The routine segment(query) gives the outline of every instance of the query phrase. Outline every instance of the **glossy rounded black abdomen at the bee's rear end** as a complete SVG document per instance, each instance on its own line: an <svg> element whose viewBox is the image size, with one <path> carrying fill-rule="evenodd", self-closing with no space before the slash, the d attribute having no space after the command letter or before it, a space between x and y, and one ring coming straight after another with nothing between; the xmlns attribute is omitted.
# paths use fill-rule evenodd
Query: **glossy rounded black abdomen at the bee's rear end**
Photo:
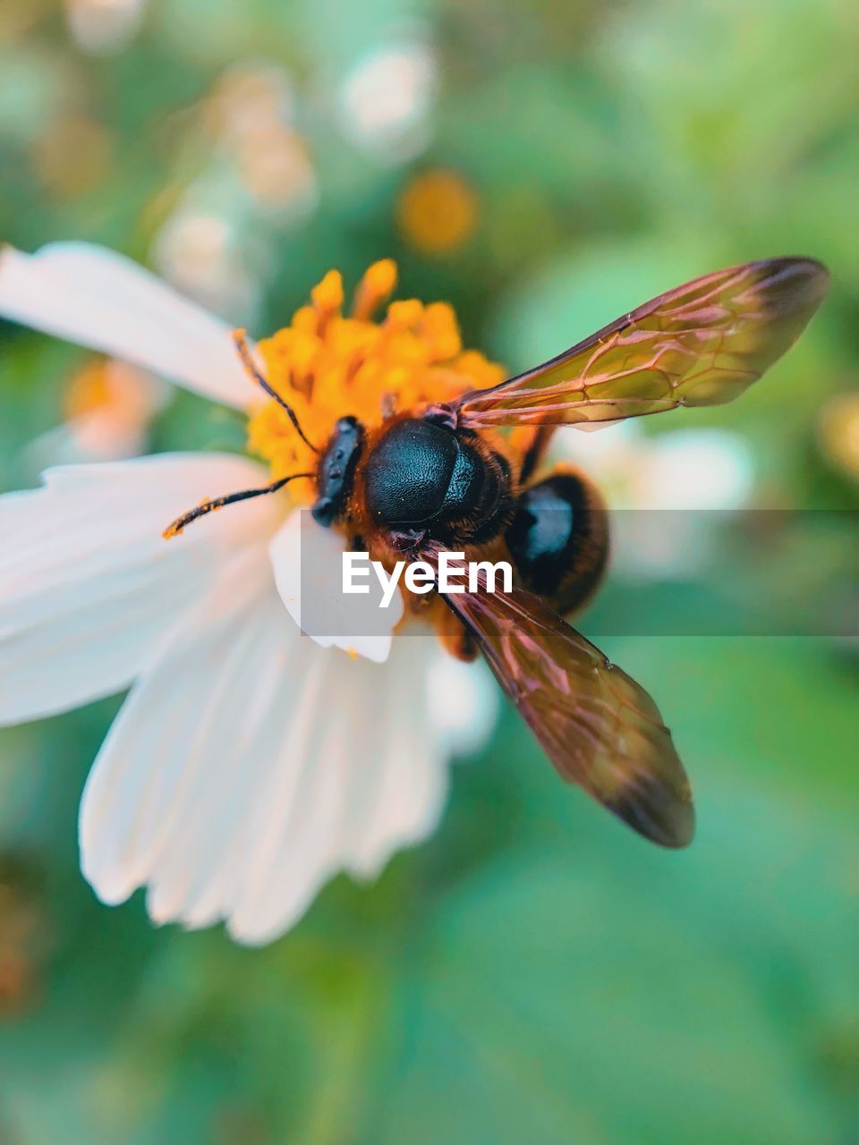
<svg viewBox="0 0 859 1145"><path fill-rule="evenodd" d="M584 474L558 466L519 496L505 540L522 587L568 616L605 574L608 511Z"/></svg>

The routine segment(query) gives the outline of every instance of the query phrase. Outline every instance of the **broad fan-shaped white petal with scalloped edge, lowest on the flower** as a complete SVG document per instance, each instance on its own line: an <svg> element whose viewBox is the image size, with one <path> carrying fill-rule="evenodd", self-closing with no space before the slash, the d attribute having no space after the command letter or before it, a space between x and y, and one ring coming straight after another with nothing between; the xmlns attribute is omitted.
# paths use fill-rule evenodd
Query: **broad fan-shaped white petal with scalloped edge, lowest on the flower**
<svg viewBox="0 0 859 1145"><path fill-rule="evenodd" d="M132 690L80 839L105 901L148 884L157 922L224 918L257 945L338 870L373 874L432 830L447 764L421 641L399 641L385 665L352 661L301 640L270 589L238 585L191 609Z"/></svg>

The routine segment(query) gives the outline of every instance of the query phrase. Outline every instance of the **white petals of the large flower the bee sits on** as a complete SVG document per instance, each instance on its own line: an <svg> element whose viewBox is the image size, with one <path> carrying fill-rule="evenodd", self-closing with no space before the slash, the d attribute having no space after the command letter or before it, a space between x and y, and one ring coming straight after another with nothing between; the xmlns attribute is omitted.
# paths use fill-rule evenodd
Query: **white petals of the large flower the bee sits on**
<svg viewBox="0 0 859 1145"><path fill-rule="evenodd" d="M238 409L257 396L226 324L109 251L5 248L0 314ZM495 702L431 638L392 642L393 608L383 634L328 640L357 658L304 637L297 547L342 542L299 532L283 495L163 539L202 498L269 480L173 453L54 468L0 498L0 722L132 685L84 792L86 877L105 902L145 885L156 922L224 919L249 943L337 871L373 876L432 831L447 760Z"/></svg>

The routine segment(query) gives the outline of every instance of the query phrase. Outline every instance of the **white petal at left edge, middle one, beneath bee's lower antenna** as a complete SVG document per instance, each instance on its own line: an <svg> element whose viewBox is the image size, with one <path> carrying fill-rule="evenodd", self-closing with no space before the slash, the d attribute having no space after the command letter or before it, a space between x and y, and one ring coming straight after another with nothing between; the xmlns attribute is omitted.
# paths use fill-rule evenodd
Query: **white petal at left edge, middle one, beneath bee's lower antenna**
<svg viewBox="0 0 859 1145"><path fill-rule="evenodd" d="M126 687L224 554L274 531L275 498L212 514L166 542L202 498L265 481L227 455L163 455L50 469L0 497L0 722Z"/></svg>

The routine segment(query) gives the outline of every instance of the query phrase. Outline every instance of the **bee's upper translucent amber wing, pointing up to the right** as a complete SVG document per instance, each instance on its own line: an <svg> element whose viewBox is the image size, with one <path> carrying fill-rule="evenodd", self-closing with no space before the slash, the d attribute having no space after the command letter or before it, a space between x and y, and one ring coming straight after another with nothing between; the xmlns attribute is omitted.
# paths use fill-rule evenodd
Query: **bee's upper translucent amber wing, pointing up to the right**
<svg viewBox="0 0 859 1145"><path fill-rule="evenodd" d="M803 258L704 275L534 370L451 404L460 425L481 429L616 421L730 402L799 337L828 277Z"/></svg>

